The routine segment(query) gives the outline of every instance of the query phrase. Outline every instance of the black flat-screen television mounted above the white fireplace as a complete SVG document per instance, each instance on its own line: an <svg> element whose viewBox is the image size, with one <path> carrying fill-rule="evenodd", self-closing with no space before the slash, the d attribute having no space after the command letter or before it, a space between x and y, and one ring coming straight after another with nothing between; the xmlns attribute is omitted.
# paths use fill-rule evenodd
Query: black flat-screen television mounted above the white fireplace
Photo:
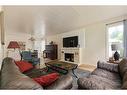
<svg viewBox="0 0 127 95"><path fill-rule="evenodd" d="M63 47L77 47L78 46L78 36L63 38Z"/></svg>

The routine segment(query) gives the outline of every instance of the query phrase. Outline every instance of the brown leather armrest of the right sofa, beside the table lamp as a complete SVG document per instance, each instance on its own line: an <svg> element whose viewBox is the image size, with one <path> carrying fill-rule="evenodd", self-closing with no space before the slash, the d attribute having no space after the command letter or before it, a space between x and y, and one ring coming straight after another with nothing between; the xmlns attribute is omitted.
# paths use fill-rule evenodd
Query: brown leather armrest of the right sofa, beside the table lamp
<svg viewBox="0 0 127 95"><path fill-rule="evenodd" d="M105 69L111 72L118 72L118 64L108 63L104 61L98 61L97 68Z"/></svg>

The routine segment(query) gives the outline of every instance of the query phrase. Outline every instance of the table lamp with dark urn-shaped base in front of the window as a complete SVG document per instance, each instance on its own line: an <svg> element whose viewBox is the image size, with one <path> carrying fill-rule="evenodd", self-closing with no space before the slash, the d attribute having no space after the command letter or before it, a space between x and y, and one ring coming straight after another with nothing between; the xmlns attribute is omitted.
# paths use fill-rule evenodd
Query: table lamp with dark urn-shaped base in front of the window
<svg viewBox="0 0 127 95"><path fill-rule="evenodd" d="M118 53L117 50L120 49L120 43L113 43L113 44L111 45L111 48L112 48L112 51L115 51L115 53L114 53L114 55L113 55L115 61L118 61L119 58L120 58L120 54Z"/></svg>

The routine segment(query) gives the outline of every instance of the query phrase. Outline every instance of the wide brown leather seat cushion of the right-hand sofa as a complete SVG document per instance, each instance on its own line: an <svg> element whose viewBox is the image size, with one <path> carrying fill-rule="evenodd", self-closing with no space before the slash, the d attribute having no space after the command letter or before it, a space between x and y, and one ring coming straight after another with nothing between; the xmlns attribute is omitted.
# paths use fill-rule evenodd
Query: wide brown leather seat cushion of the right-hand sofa
<svg viewBox="0 0 127 95"><path fill-rule="evenodd" d="M97 75L79 78L78 85L81 89L119 89L121 84Z"/></svg>

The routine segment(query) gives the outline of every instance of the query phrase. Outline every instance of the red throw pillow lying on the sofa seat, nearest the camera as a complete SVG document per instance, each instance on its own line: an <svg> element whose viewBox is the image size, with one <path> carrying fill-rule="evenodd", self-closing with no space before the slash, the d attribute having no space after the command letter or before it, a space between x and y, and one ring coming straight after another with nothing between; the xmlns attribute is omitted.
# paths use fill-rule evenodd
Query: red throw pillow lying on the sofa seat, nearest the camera
<svg viewBox="0 0 127 95"><path fill-rule="evenodd" d="M59 78L58 73L51 73L51 74L44 75L38 78L33 78L33 79L42 86L48 86L51 83L53 83L55 80L57 80L58 78Z"/></svg>

